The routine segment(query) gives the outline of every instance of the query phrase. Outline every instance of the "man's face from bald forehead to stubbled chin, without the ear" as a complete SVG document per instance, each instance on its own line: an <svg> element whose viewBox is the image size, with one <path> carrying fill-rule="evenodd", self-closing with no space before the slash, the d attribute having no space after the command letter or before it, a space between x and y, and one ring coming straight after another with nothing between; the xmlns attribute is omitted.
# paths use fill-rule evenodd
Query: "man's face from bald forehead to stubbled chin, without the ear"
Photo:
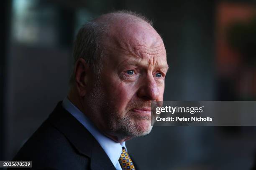
<svg viewBox="0 0 256 170"><path fill-rule="evenodd" d="M121 34L115 31L105 42L100 82L91 97L105 133L136 137L152 128L151 101L163 100L168 65L164 44L153 28L135 25Z"/></svg>

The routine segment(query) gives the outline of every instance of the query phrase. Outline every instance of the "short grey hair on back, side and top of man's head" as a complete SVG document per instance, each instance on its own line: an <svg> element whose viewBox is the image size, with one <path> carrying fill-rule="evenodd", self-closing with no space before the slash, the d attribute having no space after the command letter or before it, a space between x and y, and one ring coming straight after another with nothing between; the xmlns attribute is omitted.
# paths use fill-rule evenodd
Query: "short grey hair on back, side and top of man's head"
<svg viewBox="0 0 256 170"><path fill-rule="evenodd" d="M130 16L129 16L130 15ZM152 22L141 14L131 11L120 10L112 13L101 15L100 17L84 24L77 33L74 41L73 68L79 58L83 58L85 62L92 67L93 72L99 79L102 69L102 59L104 56L104 47L102 46L102 38L108 33L108 26L111 21L119 17L128 17L133 20L143 20L152 26ZM103 18L104 20L102 20ZM107 18L107 20L106 20ZM69 80L69 84L73 85L75 81L74 69Z"/></svg>

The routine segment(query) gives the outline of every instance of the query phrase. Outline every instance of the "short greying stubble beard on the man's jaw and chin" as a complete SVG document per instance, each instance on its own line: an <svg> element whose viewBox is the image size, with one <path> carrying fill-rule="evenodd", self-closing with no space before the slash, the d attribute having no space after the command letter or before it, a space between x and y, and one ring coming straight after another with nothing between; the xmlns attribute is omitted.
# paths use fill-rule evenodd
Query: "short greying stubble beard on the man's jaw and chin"
<svg viewBox="0 0 256 170"><path fill-rule="evenodd" d="M120 113L115 108L114 101L106 100L100 82L97 81L92 92L88 96L92 110L104 119L103 122L107 129L104 133L117 136L119 139L134 138L138 136L147 135L151 132L150 116L136 116L131 112L131 108L138 105L138 103L128 103L125 111ZM93 113L93 114L95 114ZM121 117L121 115L124 115Z"/></svg>

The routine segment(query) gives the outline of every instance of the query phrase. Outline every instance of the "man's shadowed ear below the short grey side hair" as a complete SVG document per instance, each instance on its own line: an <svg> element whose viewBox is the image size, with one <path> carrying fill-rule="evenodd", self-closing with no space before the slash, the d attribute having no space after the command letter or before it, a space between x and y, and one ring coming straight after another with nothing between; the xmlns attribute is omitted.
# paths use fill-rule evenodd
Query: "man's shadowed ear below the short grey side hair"
<svg viewBox="0 0 256 170"><path fill-rule="evenodd" d="M75 82L77 91L80 96L84 97L86 94L86 87L88 83L88 64L84 61L83 58L79 58L76 62L74 68Z"/></svg>

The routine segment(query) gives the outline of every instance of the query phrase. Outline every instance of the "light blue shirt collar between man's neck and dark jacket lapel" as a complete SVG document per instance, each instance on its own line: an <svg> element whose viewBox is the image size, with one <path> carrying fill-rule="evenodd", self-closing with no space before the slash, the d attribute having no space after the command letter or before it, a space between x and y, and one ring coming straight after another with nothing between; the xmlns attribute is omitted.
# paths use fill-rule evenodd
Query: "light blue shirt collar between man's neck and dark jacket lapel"
<svg viewBox="0 0 256 170"><path fill-rule="evenodd" d="M93 123L89 120L89 118L81 112L73 103L65 97L62 106L72 114L84 127L93 135L93 137L100 143L101 147L110 158L111 162L115 166L115 168L120 169L120 164L118 159L122 153L122 147L125 147L125 142L117 143L114 140L108 138L107 136L100 133L100 131L93 125Z"/></svg>

